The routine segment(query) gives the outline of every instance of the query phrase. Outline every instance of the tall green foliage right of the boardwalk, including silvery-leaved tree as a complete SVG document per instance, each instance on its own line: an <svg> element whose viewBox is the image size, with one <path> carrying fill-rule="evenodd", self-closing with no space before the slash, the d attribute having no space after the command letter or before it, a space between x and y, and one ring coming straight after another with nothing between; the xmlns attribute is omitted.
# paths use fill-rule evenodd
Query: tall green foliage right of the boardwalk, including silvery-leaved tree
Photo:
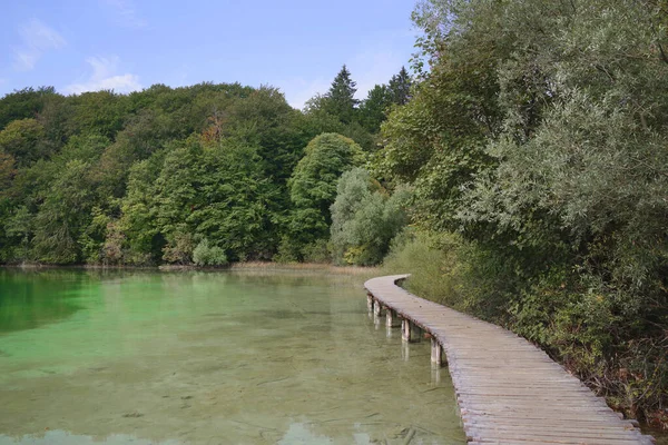
<svg viewBox="0 0 668 445"><path fill-rule="evenodd" d="M540 343L649 419L668 394L664 13L662 2L422 1L421 82L374 162L412 185L430 236L461 234L454 246L418 235L390 264L433 255L439 270L415 276L433 284L425 295Z"/></svg>

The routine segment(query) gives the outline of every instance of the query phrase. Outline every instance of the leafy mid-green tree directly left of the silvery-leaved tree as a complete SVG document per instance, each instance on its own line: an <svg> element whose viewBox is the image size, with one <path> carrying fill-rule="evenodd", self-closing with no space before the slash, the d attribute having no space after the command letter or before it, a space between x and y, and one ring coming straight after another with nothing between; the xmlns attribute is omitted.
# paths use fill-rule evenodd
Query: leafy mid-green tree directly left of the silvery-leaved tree
<svg viewBox="0 0 668 445"><path fill-rule="evenodd" d="M484 142L502 121L494 63L482 56L443 56L414 98L383 125L375 174L414 185L414 218L422 227L459 229L462 187L493 164Z"/></svg>

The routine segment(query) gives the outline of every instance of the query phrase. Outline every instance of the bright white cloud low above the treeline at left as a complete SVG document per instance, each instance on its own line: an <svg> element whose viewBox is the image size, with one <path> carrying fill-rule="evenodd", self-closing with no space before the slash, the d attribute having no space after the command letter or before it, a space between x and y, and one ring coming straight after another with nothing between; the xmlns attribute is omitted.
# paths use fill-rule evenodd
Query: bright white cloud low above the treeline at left
<svg viewBox="0 0 668 445"><path fill-rule="evenodd" d="M75 82L65 87L66 93L79 95L86 91L114 90L130 92L140 90L139 77L125 73L117 75L118 57L89 57L86 59L92 68L92 73L84 82Z"/></svg>

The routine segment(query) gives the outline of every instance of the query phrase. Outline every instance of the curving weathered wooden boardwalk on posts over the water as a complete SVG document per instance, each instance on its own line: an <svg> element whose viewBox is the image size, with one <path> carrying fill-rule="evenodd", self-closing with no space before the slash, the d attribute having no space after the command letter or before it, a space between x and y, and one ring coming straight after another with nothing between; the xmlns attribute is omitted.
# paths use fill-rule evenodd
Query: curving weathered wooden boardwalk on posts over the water
<svg viewBox="0 0 668 445"><path fill-rule="evenodd" d="M446 360L470 444L652 444L548 355L499 326L415 297L407 275L364 284L370 309L401 320L405 340L432 338L432 362ZM446 358L442 355L444 352Z"/></svg>

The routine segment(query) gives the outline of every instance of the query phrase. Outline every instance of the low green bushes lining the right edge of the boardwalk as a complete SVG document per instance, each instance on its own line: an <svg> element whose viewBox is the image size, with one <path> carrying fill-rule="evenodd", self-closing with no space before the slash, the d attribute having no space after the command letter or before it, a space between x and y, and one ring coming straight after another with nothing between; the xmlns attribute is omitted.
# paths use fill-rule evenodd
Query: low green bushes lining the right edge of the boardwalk
<svg viewBox="0 0 668 445"><path fill-rule="evenodd" d="M423 298L500 324L540 345L608 403L656 426L668 387L668 336L623 289L560 264L525 276L510 256L460 235L409 228L392 243L387 274ZM656 310L656 309L655 309ZM660 310L656 310L661 314Z"/></svg>

